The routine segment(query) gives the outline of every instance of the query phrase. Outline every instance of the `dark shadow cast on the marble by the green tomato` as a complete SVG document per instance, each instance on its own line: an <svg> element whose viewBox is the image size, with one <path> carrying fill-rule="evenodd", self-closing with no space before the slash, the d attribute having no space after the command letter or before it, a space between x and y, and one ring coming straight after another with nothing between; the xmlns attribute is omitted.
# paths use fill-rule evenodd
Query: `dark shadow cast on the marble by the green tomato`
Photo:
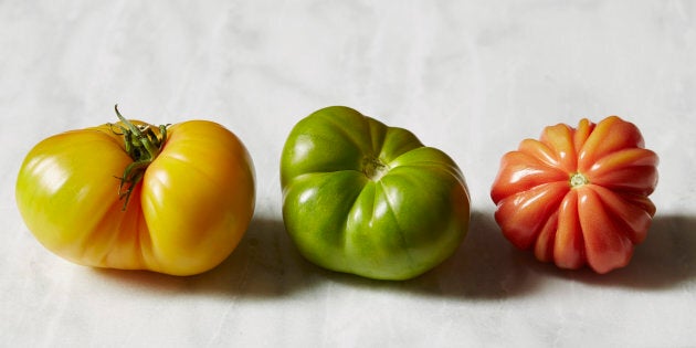
<svg viewBox="0 0 696 348"><path fill-rule="evenodd" d="M488 212L474 211L470 231L455 253L433 270L408 281L375 281L323 271L335 282L387 292L460 299L502 299L534 292L530 270L502 235Z"/></svg>

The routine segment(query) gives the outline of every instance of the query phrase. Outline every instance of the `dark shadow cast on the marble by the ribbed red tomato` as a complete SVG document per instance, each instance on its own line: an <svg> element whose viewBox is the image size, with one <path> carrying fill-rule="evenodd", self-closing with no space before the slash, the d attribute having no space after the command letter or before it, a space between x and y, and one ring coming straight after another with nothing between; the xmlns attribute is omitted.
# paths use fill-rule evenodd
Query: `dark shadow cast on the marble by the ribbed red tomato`
<svg viewBox="0 0 696 348"><path fill-rule="evenodd" d="M635 247L631 263L607 274L589 268L558 270L536 263L536 272L579 281L592 286L664 289L696 278L696 217L660 215L653 219L647 238Z"/></svg>

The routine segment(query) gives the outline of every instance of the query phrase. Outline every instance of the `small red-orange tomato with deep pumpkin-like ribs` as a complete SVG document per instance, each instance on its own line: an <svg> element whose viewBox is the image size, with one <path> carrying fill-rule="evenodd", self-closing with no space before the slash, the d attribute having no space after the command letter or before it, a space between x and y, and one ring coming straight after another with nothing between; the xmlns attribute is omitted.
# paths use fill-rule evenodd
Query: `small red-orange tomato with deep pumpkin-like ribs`
<svg viewBox="0 0 696 348"><path fill-rule="evenodd" d="M657 155L616 116L545 128L506 154L493 183L495 219L519 249L562 268L607 273L629 264L655 205Z"/></svg>

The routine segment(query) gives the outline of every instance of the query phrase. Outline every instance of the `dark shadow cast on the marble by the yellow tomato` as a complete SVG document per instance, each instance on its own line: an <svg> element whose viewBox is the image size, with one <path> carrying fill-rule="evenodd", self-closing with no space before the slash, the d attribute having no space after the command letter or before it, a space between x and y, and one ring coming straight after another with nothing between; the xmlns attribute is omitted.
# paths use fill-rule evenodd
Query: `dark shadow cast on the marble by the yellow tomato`
<svg viewBox="0 0 696 348"><path fill-rule="evenodd" d="M152 294L274 298L312 286L313 266L295 251L281 219L254 217L234 252L211 271L171 276L147 271L98 270L107 282Z"/></svg>

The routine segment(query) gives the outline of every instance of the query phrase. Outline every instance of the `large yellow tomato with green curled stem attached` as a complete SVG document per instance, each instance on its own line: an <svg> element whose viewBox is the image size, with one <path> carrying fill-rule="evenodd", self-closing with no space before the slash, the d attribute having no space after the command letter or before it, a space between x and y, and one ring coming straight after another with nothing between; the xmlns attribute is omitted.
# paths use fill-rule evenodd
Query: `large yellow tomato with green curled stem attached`
<svg viewBox="0 0 696 348"><path fill-rule="evenodd" d="M172 275L214 267L254 211L244 145L212 122L155 127L118 116L31 149L15 190L27 226L82 265Z"/></svg>

